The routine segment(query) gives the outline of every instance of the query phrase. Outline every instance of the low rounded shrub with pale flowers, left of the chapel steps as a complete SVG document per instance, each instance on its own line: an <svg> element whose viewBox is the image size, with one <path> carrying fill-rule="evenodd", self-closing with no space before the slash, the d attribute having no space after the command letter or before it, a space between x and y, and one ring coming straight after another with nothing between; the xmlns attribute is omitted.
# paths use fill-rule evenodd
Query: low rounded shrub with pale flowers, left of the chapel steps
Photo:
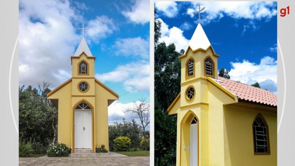
<svg viewBox="0 0 295 166"><path fill-rule="evenodd" d="M68 157L72 148L64 143L50 144L47 150L48 157Z"/></svg>

